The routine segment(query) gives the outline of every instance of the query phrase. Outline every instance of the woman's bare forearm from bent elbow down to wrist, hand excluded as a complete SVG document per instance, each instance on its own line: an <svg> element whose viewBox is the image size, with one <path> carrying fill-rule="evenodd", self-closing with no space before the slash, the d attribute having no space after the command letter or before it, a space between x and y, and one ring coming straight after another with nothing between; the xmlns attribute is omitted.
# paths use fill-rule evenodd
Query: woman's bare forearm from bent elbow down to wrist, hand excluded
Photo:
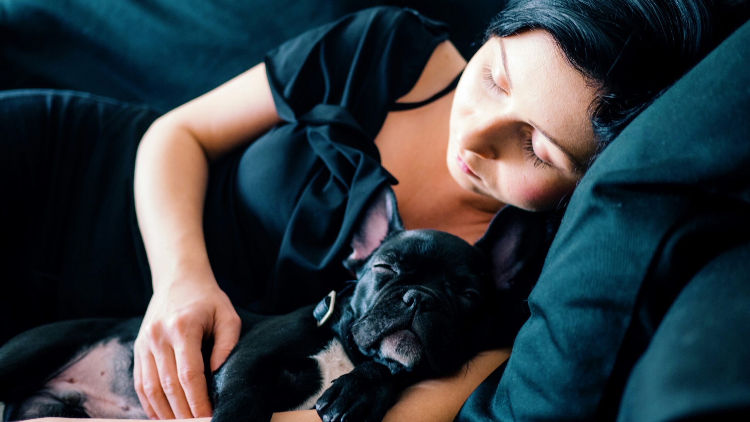
<svg viewBox="0 0 750 422"><path fill-rule="evenodd" d="M134 188L154 289L186 274L213 278L202 229L207 180L208 160L196 139L177 125L152 124L136 155Z"/></svg>

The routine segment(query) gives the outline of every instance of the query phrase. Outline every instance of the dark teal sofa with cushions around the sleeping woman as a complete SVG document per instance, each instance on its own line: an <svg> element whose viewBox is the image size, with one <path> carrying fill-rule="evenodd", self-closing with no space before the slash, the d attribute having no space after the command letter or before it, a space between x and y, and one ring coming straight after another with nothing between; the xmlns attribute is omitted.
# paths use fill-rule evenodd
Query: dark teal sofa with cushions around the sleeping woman
<svg viewBox="0 0 750 422"><path fill-rule="evenodd" d="M469 58L500 1L0 0L0 89L166 111L308 28L379 4ZM750 24L642 112L580 181L511 358L458 421L747 420Z"/></svg>

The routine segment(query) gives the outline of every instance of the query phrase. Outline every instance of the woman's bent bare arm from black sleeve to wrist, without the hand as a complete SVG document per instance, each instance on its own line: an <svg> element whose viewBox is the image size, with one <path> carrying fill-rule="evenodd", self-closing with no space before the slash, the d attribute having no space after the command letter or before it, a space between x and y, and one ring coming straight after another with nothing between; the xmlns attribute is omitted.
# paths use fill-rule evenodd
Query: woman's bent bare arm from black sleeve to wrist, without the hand
<svg viewBox="0 0 750 422"><path fill-rule="evenodd" d="M210 271L202 234L208 160L280 121L261 63L154 121L138 148L135 196L154 284Z"/></svg>

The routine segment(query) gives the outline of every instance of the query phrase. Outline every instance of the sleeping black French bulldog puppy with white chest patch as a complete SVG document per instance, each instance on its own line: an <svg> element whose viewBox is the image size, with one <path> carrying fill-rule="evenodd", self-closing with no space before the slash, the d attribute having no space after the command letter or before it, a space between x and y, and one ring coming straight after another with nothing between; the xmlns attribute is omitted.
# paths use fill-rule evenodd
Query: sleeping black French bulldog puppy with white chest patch
<svg viewBox="0 0 750 422"><path fill-rule="evenodd" d="M313 408L324 422L380 421L404 387L480 352L493 289L475 247L445 232L405 231L390 188L352 247L344 265L357 281L338 295L284 316L238 310L241 340L208 374L214 421ZM140 323L58 322L10 340L0 348L5 421L145 418L132 376Z"/></svg>

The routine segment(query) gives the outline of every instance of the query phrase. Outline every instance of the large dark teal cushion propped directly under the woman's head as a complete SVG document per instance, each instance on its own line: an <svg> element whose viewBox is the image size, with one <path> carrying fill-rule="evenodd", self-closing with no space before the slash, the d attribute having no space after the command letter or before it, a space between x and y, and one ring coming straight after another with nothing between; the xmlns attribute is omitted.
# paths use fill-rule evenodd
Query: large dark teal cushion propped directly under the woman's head
<svg viewBox="0 0 750 422"><path fill-rule="evenodd" d="M616 418L628 375L679 290L750 238L748 45L745 23L583 177L511 358L458 420Z"/></svg>

